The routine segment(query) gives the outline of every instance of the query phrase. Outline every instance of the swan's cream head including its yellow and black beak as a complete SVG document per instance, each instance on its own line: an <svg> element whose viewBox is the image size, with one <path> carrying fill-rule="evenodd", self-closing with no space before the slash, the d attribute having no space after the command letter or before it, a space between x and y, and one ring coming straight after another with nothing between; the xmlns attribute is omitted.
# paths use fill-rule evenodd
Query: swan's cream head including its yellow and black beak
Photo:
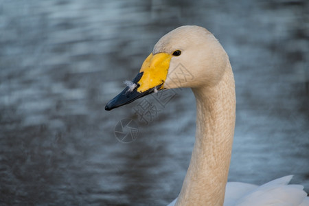
<svg viewBox="0 0 309 206"><path fill-rule="evenodd" d="M227 62L225 50L205 28L178 27L160 38L136 78L105 109L117 108L161 89L213 87L225 73Z"/></svg>

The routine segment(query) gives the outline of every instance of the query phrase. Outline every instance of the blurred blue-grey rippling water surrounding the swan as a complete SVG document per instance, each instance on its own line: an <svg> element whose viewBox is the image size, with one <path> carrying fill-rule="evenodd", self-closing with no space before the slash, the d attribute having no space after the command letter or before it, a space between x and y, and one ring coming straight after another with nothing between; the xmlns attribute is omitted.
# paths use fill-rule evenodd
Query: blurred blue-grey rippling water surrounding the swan
<svg viewBox="0 0 309 206"><path fill-rule="evenodd" d="M176 198L194 144L192 91L163 91L164 104L150 95L104 106L180 25L206 27L231 60L238 102L229 181L294 174L309 192L308 10L306 0L1 0L0 205ZM143 101L157 111L142 116ZM122 119L135 133L116 127Z"/></svg>

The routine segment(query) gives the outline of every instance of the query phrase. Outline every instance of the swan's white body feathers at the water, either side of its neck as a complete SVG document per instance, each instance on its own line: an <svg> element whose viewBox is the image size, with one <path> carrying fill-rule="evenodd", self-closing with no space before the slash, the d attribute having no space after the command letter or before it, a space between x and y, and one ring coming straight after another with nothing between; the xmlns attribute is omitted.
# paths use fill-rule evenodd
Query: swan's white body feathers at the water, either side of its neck
<svg viewBox="0 0 309 206"><path fill-rule="evenodd" d="M302 185L288 185L292 175L260 187L247 183L227 183L224 206L309 206ZM168 206L174 206L177 198Z"/></svg>

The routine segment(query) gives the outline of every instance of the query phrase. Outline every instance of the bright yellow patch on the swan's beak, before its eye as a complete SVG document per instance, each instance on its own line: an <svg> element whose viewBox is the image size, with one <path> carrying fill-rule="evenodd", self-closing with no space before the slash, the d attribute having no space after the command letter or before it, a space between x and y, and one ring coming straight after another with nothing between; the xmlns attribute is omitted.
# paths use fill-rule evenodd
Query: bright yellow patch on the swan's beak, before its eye
<svg viewBox="0 0 309 206"><path fill-rule="evenodd" d="M143 65L141 65L139 72L144 73L139 82L137 82L140 85L137 91L141 93L164 83L166 76L168 76L171 58L172 55L168 53L158 53L155 55L151 53Z"/></svg>

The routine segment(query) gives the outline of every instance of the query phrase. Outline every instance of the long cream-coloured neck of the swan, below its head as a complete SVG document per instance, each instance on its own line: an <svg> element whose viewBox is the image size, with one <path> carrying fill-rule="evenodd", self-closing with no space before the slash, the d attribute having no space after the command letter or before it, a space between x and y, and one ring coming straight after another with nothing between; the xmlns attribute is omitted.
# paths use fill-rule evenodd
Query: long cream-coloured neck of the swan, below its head
<svg viewBox="0 0 309 206"><path fill-rule="evenodd" d="M231 65L214 87L192 89L196 98L196 137L176 205L222 206L236 119Z"/></svg>

